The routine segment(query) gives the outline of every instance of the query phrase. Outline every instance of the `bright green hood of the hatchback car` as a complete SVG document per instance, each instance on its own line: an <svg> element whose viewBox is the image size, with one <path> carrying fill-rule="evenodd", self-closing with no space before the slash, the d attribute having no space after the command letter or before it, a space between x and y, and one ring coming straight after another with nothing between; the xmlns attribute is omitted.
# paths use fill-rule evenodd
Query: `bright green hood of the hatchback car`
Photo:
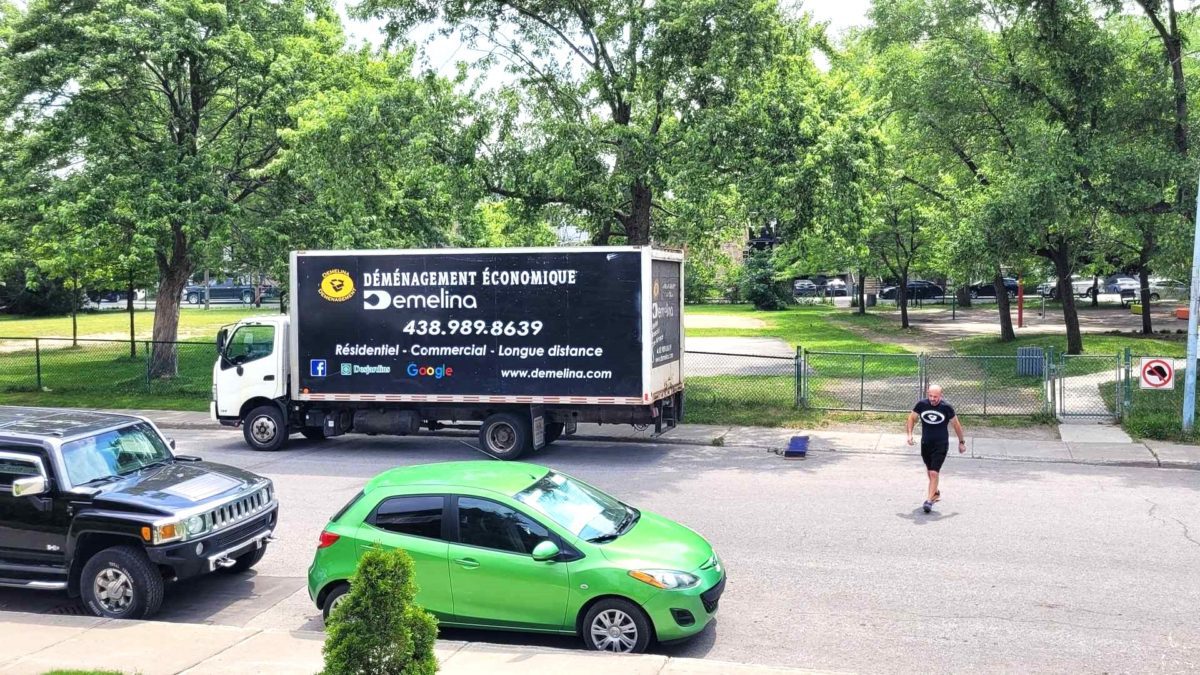
<svg viewBox="0 0 1200 675"><path fill-rule="evenodd" d="M713 546L689 527L648 510L617 539L598 544L605 557L634 568L694 572L713 557Z"/></svg>

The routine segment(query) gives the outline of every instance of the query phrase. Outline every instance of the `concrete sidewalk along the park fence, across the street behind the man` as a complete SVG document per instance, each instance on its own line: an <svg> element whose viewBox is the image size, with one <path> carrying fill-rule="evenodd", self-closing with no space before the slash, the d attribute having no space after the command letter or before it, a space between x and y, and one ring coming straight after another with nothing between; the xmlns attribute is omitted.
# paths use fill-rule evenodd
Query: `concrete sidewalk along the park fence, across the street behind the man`
<svg viewBox="0 0 1200 675"><path fill-rule="evenodd" d="M162 429L218 429L206 413L121 412L146 416ZM1184 446L1165 441L1132 441L1120 426L1111 424L1064 424L1060 426L1062 438L1058 441L974 436L970 432L971 430L967 431L967 453L973 459L1200 470L1200 446ZM989 431L995 431L996 435L1003 434L1003 429L990 429ZM475 436L474 432L462 430L445 430L434 434L460 437ZM655 438L648 429L638 431L628 425L581 424L578 432L572 438L618 443L653 442L778 449L786 447L793 436L799 435L809 437L809 448L812 452L919 454L918 448L905 443L902 434L882 431L810 431L764 426L683 424ZM954 449L950 448L952 453Z"/></svg>

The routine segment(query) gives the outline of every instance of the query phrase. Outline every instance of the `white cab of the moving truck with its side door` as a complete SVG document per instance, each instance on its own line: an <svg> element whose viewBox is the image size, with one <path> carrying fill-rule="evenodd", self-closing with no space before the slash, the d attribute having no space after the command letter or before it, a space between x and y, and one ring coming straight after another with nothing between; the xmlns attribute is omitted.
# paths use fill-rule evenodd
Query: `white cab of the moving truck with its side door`
<svg viewBox="0 0 1200 675"><path fill-rule="evenodd" d="M283 335L270 323L244 323L226 344L216 374L220 414L234 417L253 398L283 395Z"/></svg>

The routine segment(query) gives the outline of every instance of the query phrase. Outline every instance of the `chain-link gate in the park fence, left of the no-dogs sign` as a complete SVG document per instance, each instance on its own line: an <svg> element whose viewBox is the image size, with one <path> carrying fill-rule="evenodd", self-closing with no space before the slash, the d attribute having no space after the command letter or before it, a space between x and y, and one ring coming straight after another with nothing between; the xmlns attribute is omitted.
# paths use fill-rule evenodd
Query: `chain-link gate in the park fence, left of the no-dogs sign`
<svg viewBox="0 0 1200 675"><path fill-rule="evenodd" d="M1060 354L1055 364L1057 413L1070 418L1118 418L1124 398L1121 354Z"/></svg>

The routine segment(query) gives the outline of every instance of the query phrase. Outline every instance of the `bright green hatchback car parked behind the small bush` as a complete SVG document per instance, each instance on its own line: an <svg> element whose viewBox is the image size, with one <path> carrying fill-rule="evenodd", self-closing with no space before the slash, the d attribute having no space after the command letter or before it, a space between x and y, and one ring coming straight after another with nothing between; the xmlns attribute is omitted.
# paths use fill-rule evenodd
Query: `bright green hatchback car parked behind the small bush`
<svg viewBox="0 0 1200 675"><path fill-rule="evenodd" d="M703 537L542 466L463 461L371 479L320 533L308 595L325 617L371 549L403 549L446 626L577 634L641 652L704 629L725 569Z"/></svg>

